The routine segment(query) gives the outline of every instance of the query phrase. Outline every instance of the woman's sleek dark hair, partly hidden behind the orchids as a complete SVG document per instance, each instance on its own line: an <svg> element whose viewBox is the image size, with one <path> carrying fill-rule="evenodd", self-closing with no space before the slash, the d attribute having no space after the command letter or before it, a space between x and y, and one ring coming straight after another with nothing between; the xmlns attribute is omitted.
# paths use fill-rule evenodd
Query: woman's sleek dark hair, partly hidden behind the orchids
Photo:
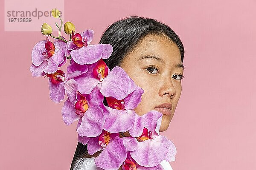
<svg viewBox="0 0 256 170"><path fill-rule="evenodd" d="M178 35L169 26L160 21L138 16L125 17L105 30L99 43L111 44L113 52L108 59L103 60L111 70L116 66L120 66L125 56L131 53L148 34L162 35L168 37L171 42L175 42L180 49L181 62L183 62L184 47ZM105 99L104 104L108 106ZM78 142L70 170L74 170L75 164L78 164L76 167L76 170L78 170L83 162L83 159L80 162L78 162L78 159L87 156L87 154L87 144L83 145Z"/></svg>

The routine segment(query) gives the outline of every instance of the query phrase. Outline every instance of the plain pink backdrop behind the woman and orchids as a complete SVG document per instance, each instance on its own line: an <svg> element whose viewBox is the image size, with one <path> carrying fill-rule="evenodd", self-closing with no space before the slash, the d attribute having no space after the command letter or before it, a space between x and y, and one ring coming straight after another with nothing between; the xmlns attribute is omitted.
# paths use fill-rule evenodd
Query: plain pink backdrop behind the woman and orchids
<svg viewBox="0 0 256 170"><path fill-rule="evenodd" d="M130 15L169 25L185 46L186 67L175 116L163 133L177 147L173 169L253 170L255 9L255 0L65 0L64 15L77 32L95 31L92 44L111 23ZM32 48L45 37L40 28L5 32L3 12L0 17L0 169L67 170L77 144L76 123L64 124L64 102L53 103L48 78L29 71Z"/></svg>

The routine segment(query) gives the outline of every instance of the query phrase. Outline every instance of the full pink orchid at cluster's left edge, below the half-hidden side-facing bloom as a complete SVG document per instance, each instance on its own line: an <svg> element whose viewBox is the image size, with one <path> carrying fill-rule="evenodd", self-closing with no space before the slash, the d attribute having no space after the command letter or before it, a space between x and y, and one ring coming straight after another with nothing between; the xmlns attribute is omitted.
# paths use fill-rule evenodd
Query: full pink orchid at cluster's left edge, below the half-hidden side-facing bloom
<svg viewBox="0 0 256 170"><path fill-rule="evenodd" d="M81 94L74 79L64 85L68 99L61 110L64 123L70 125L78 120L77 132L80 136L96 137L103 129L109 111L105 108L98 87L91 94Z"/></svg>

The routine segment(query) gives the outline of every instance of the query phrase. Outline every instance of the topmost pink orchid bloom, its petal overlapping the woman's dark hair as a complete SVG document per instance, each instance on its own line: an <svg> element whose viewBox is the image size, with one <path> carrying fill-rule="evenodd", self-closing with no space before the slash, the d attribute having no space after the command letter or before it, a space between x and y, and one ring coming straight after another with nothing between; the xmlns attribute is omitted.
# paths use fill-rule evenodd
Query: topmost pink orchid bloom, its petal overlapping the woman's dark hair
<svg viewBox="0 0 256 170"><path fill-rule="evenodd" d="M72 31L72 40L67 42L66 56L71 57L78 64L93 64L99 59L107 59L113 52L110 44L90 45L93 40L94 31L86 30L79 34Z"/></svg>

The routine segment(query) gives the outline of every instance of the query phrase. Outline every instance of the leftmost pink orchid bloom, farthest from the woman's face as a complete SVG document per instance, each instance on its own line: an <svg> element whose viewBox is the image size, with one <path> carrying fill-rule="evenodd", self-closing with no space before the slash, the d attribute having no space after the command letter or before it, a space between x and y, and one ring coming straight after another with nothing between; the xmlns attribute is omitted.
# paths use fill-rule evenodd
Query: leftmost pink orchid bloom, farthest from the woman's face
<svg viewBox="0 0 256 170"><path fill-rule="evenodd" d="M46 38L46 40L38 42L32 50L30 71L34 77L55 73L57 68L66 62L66 43L59 39L53 43L49 41L48 37Z"/></svg>

